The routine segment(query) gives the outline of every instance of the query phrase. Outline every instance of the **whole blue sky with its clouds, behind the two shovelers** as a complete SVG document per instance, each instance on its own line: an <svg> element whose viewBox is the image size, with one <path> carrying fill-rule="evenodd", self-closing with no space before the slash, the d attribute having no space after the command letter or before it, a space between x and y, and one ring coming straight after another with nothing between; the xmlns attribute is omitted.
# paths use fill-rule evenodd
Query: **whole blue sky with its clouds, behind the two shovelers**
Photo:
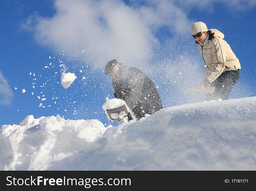
<svg viewBox="0 0 256 191"><path fill-rule="evenodd" d="M146 72L164 108L203 101L205 95L182 94L202 80L203 61L190 34L196 21L223 32L240 60L230 99L256 96L255 1L0 3L0 125L57 114L112 124L101 106L113 98L104 66L114 58ZM77 76L67 89L60 84L64 70Z"/></svg>

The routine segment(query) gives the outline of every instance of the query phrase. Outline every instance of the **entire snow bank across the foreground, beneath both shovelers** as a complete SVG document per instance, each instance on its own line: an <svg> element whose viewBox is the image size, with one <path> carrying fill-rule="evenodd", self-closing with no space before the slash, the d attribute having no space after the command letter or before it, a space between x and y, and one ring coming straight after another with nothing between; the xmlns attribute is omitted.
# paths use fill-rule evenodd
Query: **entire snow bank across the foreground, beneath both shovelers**
<svg viewBox="0 0 256 191"><path fill-rule="evenodd" d="M0 129L0 170L256 170L256 97L104 127L59 115Z"/></svg>

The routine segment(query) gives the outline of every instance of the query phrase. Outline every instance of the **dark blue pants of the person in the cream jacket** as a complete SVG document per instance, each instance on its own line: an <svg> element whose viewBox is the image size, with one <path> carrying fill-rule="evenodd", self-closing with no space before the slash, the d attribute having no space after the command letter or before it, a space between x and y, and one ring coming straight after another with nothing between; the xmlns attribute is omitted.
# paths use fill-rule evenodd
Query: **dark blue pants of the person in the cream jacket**
<svg viewBox="0 0 256 191"><path fill-rule="evenodd" d="M239 79L239 70L230 70L223 72L216 80L211 83L211 87L215 87L212 94L207 94L205 101L211 100L227 100L232 88Z"/></svg>

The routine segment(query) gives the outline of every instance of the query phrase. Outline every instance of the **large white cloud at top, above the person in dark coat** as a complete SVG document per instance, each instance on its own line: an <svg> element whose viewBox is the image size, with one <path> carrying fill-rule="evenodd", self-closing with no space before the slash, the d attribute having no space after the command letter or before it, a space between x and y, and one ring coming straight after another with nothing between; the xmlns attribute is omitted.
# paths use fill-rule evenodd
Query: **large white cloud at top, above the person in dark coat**
<svg viewBox="0 0 256 191"><path fill-rule="evenodd" d="M154 36L159 26L176 31L189 27L186 15L171 1L156 2L136 7L116 0L57 0L53 17L36 16L35 25L29 17L23 26L34 26L39 43L79 53L95 67L114 58L130 65L143 64L153 54L152 47L159 44Z"/></svg>

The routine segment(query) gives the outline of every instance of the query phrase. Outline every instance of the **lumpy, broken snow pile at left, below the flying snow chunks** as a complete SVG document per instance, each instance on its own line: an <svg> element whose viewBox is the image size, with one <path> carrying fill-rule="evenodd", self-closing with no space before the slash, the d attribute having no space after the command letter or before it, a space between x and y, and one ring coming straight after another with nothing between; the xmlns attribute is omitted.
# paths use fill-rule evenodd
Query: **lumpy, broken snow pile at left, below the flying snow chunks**
<svg viewBox="0 0 256 191"><path fill-rule="evenodd" d="M97 119L65 120L27 116L0 130L0 170L45 170L56 162L97 147L106 128Z"/></svg>

